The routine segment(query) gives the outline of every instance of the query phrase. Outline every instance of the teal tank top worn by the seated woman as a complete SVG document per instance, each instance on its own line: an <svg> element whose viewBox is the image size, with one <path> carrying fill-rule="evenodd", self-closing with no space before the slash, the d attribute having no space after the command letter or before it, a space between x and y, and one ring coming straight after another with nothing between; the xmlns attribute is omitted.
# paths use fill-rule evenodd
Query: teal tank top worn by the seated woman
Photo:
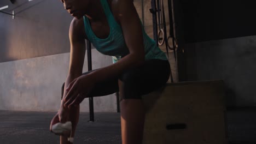
<svg viewBox="0 0 256 144"><path fill-rule="evenodd" d="M107 0L101 0L101 5L104 9L104 13L107 17L108 24L110 27L109 35L106 39L98 38L91 29L88 17L84 16L85 33L89 41L94 45L97 51L103 55L113 57L113 63L119 61L119 59L129 54L123 36L121 26L115 21L113 14L110 11ZM142 22L141 22L142 25ZM151 39L145 32L142 26L143 40L144 40L144 51L145 61L149 59L162 59L167 60L167 57L163 51L156 45L155 41Z"/></svg>

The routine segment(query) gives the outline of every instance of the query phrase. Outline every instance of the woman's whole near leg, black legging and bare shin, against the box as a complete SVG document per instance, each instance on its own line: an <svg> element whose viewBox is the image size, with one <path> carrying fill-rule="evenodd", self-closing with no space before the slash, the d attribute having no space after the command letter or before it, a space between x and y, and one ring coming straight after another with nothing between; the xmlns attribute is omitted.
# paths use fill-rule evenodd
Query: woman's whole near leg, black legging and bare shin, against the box
<svg viewBox="0 0 256 144"><path fill-rule="evenodd" d="M119 80L121 135L123 144L142 144L145 110L141 96L165 85L170 75L168 61L152 59L126 71Z"/></svg>

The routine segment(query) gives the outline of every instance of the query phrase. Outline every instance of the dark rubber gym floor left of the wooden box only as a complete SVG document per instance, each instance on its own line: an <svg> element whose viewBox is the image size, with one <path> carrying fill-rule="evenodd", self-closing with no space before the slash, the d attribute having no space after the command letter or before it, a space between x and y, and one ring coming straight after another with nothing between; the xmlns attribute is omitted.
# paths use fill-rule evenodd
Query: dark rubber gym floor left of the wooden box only
<svg viewBox="0 0 256 144"><path fill-rule="evenodd" d="M49 131L55 113L0 111L0 143L60 143ZM95 113L95 122L88 120L89 113L80 114L75 143L121 143L120 113Z"/></svg>

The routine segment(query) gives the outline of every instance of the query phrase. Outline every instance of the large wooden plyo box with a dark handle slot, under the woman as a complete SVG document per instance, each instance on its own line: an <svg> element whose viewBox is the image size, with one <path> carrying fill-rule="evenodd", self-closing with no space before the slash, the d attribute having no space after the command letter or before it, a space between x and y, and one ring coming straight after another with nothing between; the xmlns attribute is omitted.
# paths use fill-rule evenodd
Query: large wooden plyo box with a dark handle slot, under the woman
<svg viewBox="0 0 256 144"><path fill-rule="evenodd" d="M143 95L143 144L226 144L224 83L167 83Z"/></svg>

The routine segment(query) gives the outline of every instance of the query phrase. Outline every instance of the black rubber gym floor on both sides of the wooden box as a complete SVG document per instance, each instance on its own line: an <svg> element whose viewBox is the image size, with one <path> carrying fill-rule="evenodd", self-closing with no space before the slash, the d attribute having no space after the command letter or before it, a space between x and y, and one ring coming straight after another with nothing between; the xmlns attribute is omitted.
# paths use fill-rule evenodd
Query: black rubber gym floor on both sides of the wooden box
<svg viewBox="0 0 256 144"><path fill-rule="evenodd" d="M0 143L59 143L59 136L49 132L54 115L55 112L0 111ZM95 122L88 120L89 113L80 114L75 143L121 144L120 113L95 113ZM256 143L256 109L228 110L226 121L230 144Z"/></svg>

